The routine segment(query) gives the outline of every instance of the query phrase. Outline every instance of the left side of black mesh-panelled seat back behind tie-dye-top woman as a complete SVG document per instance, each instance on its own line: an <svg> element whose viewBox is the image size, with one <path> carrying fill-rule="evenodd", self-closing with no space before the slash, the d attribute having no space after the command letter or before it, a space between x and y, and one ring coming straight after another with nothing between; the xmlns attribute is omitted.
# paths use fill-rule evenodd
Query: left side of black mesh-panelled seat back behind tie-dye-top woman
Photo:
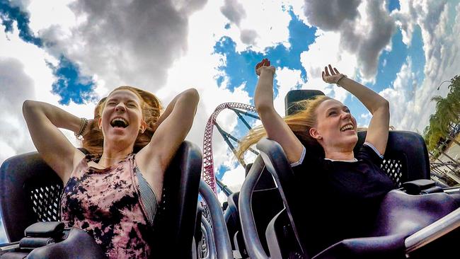
<svg viewBox="0 0 460 259"><path fill-rule="evenodd" d="M0 207L6 236L19 241L37 221L59 221L62 180L30 152L6 159L0 168Z"/></svg>

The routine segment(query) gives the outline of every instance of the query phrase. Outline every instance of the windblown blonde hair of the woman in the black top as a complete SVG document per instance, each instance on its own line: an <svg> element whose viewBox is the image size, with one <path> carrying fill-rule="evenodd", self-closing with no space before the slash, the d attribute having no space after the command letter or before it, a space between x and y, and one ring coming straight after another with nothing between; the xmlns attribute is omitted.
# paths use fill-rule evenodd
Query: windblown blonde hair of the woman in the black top
<svg viewBox="0 0 460 259"><path fill-rule="evenodd" d="M316 109L323 101L330 99L332 98L328 96L316 96L309 100L301 100L293 105L293 108L299 110L299 112L283 118L284 122L286 122L296 137L299 138L300 142L304 144L309 151L318 154L320 157L324 157L324 149L316 139L310 136L309 131L311 127L316 126ZM263 125L251 129L246 137L243 137L238 144L236 158L241 161L246 150L266 136L267 132L265 132Z"/></svg>

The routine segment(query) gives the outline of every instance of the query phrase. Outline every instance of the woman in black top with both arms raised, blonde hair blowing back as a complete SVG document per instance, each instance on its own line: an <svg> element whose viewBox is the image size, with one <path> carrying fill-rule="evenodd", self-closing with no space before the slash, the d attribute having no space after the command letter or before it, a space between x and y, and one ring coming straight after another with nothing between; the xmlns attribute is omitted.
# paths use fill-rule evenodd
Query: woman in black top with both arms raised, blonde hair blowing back
<svg viewBox="0 0 460 259"><path fill-rule="evenodd" d="M347 106L319 96L301 101L303 110L283 118L273 107L275 67L263 59L255 72L254 103L263 127L242 140L238 156L265 136L282 146L298 179L306 212L301 231L311 237L306 244L310 255L344 238L366 236L381 198L393 188L379 167L389 133L388 101L332 66L324 68L323 81L345 88L372 113L365 143L355 154L357 122Z"/></svg>

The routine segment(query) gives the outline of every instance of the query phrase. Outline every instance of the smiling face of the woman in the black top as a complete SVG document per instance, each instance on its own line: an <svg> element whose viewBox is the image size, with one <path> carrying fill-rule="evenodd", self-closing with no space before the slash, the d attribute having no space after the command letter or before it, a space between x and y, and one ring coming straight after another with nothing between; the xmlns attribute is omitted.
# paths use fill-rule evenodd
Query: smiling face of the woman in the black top
<svg viewBox="0 0 460 259"><path fill-rule="evenodd" d="M338 100L325 100L316 109L316 127L311 137L318 140L326 151L352 151L357 142L355 117Z"/></svg>

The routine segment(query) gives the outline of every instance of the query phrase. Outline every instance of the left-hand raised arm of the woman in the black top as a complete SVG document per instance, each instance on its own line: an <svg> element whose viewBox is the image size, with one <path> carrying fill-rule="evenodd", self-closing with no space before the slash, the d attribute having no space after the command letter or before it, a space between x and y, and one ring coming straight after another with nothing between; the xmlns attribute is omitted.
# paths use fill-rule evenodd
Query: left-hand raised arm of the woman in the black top
<svg viewBox="0 0 460 259"><path fill-rule="evenodd" d="M255 87L254 104L267 137L282 146L290 163L299 161L302 144L273 106L275 67L270 66L268 59L263 59L255 66L255 73L259 76L259 80Z"/></svg>

